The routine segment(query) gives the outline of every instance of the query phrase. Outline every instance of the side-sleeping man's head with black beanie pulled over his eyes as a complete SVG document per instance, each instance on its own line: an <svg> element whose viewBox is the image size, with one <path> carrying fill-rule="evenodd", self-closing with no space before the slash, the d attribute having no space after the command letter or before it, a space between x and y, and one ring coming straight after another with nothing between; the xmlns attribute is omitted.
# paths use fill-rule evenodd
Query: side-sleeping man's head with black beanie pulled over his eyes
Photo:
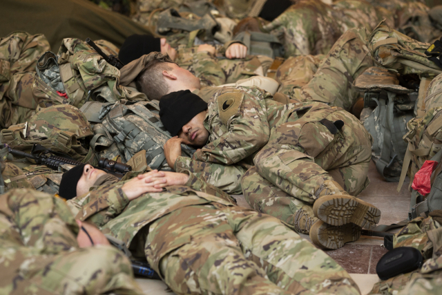
<svg viewBox="0 0 442 295"><path fill-rule="evenodd" d="M184 144L204 146L209 131L204 127L207 103L191 91L176 91L160 99L160 118L172 136L178 135Z"/></svg>

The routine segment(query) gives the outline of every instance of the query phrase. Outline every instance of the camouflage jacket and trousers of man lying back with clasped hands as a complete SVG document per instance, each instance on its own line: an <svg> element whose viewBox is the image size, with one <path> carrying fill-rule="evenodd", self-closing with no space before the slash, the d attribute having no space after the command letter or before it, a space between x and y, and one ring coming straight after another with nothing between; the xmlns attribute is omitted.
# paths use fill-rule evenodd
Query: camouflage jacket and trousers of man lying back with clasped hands
<svg viewBox="0 0 442 295"><path fill-rule="evenodd" d="M145 256L176 294L358 294L323 251L280 220L233 206L193 174L185 186L132 201L122 184L95 187L68 204Z"/></svg>

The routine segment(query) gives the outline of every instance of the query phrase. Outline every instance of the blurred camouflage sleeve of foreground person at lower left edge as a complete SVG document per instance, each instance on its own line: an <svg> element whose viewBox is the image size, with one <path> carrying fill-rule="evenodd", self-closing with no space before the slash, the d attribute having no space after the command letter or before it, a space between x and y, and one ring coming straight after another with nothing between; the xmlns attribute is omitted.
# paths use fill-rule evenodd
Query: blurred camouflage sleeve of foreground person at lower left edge
<svg viewBox="0 0 442 295"><path fill-rule="evenodd" d="M77 247L77 232L77 223L59 198L33 189L15 189L0 197L3 242L57 254Z"/></svg>

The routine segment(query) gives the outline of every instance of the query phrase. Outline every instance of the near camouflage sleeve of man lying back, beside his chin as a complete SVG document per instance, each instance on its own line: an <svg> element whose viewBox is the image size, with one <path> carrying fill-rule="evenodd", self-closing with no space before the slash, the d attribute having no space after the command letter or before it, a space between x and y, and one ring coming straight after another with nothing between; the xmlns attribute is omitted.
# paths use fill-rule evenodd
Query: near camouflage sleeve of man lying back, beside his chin
<svg viewBox="0 0 442 295"><path fill-rule="evenodd" d="M123 211L129 200L122 190L122 182L99 187L84 196L68 200L70 211L79 220L89 220L102 227Z"/></svg>

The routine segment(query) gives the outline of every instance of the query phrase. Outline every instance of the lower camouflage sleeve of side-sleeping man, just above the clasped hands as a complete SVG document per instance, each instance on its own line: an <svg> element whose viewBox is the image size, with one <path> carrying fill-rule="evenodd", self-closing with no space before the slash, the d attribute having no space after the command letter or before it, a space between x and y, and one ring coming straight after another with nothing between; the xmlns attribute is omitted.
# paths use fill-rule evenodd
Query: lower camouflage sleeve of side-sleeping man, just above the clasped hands
<svg viewBox="0 0 442 295"><path fill-rule="evenodd" d="M233 195L242 193L241 178L247 171L239 165L206 163L187 157L178 157L174 169L178 173L188 170L214 187Z"/></svg>

